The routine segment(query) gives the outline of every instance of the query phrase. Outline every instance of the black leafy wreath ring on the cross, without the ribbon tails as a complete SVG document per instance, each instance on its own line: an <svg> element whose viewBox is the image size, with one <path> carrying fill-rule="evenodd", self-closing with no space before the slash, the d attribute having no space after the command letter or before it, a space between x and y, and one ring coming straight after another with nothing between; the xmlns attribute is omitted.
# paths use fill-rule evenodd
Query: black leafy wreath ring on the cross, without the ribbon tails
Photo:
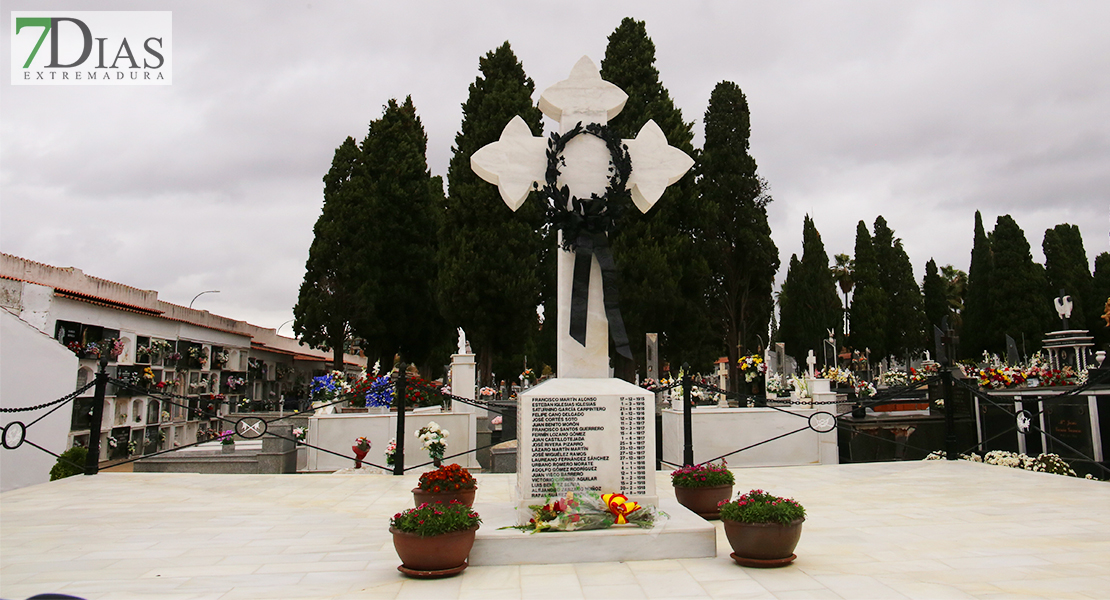
<svg viewBox="0 0 1110 600"><path fill-rule="evenodd" d="M566 166L563 150L576 136L588 133L603 142L609 150L609 183L605 193L591 194L588 199L571 195L566 185L558 186L559 167ZM583 234L609 235L620 210L620 203L613 202L628 196L628 176L632 174L632 157L628 146L620 136L601 123L583 125L579 121L571 131L559 135L552 133L547 140L547 172L543 193L547 197L546 218L553 227L563 232L562 246L573 252Z"/></svg>

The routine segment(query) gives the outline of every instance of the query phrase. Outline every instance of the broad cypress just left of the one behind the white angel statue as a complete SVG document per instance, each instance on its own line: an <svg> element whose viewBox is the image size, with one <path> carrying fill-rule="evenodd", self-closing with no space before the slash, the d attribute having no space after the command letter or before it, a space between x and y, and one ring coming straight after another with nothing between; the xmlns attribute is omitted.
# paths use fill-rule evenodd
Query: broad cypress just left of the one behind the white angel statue
<svg viewBox="0 0 1110 600"><path fill-rule="evenodd" d="M1006 352L1006 335L1018 343L1023 354L1040 348L1048 326L1051 305L1046 298L1045 270L1033 263L1029 241L1010 215L998 217L990 234L993 265L990 276L990 308L998 315L988 330L986 347L1000 356Z"/></svg>

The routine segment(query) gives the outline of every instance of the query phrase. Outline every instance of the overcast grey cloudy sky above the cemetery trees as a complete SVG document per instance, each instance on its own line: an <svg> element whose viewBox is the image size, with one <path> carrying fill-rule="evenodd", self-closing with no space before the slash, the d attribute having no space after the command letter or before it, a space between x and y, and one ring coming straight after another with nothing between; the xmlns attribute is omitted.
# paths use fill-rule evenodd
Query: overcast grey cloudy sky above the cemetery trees
<svg viewBox="0 0 1110 600"><path fill-rule="evenodd" d="M170 10L169 87L13 87L13 10ZM2 9L0 251L276 327L292 318L321 177L411 94L446 174L478 58L508 40L538 92L646 21L687 121L736 82L785 265L814 216L831 256L886 217L918 281L967 270L1011 214L1038 262L1058 223L1110 250L1110 3L27 2ZM553 126L547 122L545 126ZM506 209L507 210L507 209ZM282 333L289 334L286 326Z"/></svg>

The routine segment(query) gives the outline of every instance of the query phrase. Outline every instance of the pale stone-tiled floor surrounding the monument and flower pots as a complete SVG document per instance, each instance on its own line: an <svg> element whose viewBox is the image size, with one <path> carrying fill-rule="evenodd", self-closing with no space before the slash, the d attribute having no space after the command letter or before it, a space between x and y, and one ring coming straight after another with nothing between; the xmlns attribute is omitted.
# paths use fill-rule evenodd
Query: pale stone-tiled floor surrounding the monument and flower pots
<svg viewBox="0 0 1110 600"><path fill-rule="evenodd" d="M0 597L1110 598L1110 484L965 461L735 472L805 505L794 565L735 565L718 523L716 558L411 580L386 528L416 475L109 472L0 495ZM506 501L515 477L478 482Z"/></svg>

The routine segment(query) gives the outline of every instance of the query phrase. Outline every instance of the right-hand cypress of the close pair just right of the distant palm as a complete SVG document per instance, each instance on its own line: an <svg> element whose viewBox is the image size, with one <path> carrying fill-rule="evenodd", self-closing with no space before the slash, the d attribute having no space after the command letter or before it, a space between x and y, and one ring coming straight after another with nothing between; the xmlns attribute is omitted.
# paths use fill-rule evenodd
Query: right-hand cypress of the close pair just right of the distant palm
<svg viewBox="0 0 1110 600"><path fill-rule="evenodd" d="M921 288L914 265L882 216L875 220L875 256L879 282L887 294L887 354L907 358L920 352L925 342L925 312Z"/></svg>

